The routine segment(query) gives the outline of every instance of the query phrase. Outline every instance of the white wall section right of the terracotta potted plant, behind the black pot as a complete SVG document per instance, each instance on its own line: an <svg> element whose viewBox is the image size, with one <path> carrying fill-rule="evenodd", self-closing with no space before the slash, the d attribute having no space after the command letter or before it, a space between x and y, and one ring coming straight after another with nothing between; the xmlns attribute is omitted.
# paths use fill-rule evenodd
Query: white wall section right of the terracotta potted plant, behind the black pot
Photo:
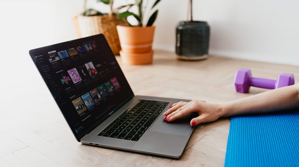
<svg viewBox="0 0 299 167"><path fill-rule="evenodd" d="M193 0L194 20L211 27L210 54L299 65L298 0ZM187 0L161 1L155 48L174 51Z"/></svg>

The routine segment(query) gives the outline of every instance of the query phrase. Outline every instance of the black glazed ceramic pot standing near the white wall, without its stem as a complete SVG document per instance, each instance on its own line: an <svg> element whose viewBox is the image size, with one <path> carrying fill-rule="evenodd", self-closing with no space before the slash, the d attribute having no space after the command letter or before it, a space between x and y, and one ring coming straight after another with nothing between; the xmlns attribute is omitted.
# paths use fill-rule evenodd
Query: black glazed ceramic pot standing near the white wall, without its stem
<svg viewBox="0 0 299 167"><path fill-rule="evenodd" d="M176 27L178 59L201 60L208 56L210 27L205 21L181 21Z"/></svg>

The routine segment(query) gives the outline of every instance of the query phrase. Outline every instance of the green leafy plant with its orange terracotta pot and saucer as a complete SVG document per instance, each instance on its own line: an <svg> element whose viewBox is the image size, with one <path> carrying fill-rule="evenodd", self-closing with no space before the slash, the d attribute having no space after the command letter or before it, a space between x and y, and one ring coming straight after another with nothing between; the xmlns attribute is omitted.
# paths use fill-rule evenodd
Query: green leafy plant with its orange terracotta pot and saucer
<svg viewBox="0 0 299 167"><path fill-rule="evenodd" d="M151 6L152 10L160 0L156 0ZM146 6L143 0L135 0L138 13L130 12L129 9L118 14L118 18L123 19L126 24L117 26L118 36L120 40L120 57L124 64L149 64L152 63L153 51L152 41L154 38L155 22L158 10L152 13L146 24L144 24L144 15L146 14ZM147 1L148 2L148 1ZM138 21L138 25L132 26L128 21L128 16L134 16Z"/></svg>

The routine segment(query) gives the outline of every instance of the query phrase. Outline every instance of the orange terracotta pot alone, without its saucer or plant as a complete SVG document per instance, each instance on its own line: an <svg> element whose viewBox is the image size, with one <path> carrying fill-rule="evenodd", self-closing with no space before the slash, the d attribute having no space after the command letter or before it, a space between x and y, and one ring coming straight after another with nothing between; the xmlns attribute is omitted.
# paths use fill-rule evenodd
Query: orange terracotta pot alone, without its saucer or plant
<svg viewBox="0 0 299 167"><path fill-rule="evenodd" d="M155 26L130 27L127 25L116 26L121 50L127 53L145 53L152 50Z"/></svg>

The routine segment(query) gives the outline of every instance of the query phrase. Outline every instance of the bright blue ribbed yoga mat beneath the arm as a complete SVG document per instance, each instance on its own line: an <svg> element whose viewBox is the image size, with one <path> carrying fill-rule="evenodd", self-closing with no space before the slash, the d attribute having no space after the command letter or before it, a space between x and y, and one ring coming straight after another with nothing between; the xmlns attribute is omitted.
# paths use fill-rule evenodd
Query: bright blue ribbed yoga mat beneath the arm
<svg viewBox="0 0 299 167"><path fill-rule="evenodd" d="M224 166L299 166L299 110L232 117Z"/></svg>

